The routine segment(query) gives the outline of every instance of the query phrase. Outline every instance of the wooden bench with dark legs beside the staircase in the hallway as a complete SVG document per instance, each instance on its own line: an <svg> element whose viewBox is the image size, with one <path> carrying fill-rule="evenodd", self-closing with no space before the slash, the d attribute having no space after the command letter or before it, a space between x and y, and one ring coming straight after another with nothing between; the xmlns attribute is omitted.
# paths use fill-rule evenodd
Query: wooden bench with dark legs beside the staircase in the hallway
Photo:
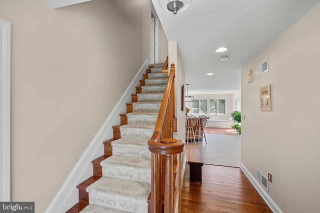
<svg viewBox="0 0 320 213"><path fill-rule="evenodd" d="M202 150L201 148L190 148L188 154L188 164L190 165L190 181L202 183Z"/></svg>

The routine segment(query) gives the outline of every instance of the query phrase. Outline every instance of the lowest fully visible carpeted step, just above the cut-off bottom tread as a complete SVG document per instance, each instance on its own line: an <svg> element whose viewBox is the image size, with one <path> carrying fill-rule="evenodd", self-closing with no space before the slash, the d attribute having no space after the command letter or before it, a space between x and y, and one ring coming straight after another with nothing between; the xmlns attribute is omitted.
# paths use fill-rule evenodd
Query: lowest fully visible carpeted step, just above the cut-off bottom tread
<svg viewBox="0 0 320 213"><path fill-rule="evenodd" d="M101 177L86 188L90 204L129 212L147 212L150 183Z"/></svg>

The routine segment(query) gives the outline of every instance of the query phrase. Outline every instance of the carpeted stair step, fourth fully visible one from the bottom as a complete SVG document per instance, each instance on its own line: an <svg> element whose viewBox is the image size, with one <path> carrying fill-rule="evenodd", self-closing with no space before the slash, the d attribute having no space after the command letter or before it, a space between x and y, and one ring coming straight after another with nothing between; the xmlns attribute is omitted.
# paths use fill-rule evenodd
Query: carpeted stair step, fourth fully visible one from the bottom
<svg viewBox="0 0 320 213"><path fill-rule="evenodd" d="M121 138L150 139L154 131L154 125L126 124L121 125L119 129Z"/></svg>

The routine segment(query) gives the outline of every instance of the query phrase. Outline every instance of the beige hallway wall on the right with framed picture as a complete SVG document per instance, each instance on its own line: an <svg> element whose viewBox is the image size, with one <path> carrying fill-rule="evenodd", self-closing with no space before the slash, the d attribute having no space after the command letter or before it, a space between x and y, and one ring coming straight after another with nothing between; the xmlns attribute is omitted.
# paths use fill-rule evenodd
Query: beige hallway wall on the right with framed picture
<svg viewBox="0 0 320 213"><path fill-rule="evenodd" d="M283 212L320 212L320 5L241 70L241 162L272 174L268 194ZM269 71L245 82L268 58ZM259 87L271 84L271 111L259 109Z"/></svg>

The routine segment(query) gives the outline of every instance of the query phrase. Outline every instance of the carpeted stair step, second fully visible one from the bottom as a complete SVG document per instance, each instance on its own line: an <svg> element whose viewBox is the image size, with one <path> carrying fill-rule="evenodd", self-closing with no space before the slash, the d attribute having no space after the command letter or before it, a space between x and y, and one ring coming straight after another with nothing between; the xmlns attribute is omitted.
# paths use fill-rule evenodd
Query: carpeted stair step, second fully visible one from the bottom
<svg viewBox="0 0 320 213"><path fill-rule="evenodd" d="M151 182L151 160L142 157L112 155L101 161L103 176Z"/></svg>

